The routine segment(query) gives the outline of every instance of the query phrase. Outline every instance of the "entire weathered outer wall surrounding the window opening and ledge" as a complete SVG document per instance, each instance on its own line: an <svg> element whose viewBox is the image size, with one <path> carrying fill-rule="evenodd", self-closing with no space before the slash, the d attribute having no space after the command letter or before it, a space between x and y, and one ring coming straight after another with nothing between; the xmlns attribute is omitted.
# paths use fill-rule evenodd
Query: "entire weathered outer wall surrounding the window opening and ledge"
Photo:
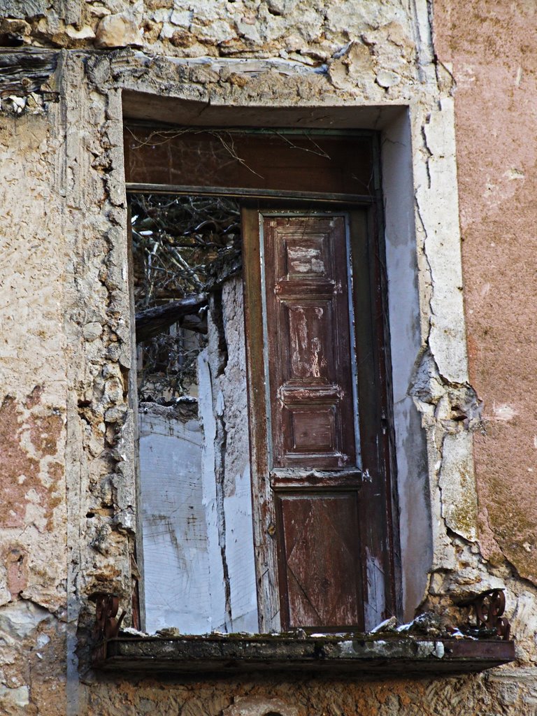
<svg viewBox="0 0 537 716"><path fill-rule="evenodd" d="M523 0L0 0L1 712L537 713L536 19ZM133 102L382 131L405 603L450 616L504 587L518 662L372 682L89 668L89 597L127 607L138 576Z"/></svg>

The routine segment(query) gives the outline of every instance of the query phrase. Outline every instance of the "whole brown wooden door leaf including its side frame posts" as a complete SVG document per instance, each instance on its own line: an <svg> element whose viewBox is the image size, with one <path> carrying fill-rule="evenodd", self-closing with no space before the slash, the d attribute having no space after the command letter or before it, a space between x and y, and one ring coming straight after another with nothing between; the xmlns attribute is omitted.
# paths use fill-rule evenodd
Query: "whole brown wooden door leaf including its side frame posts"
<svg viewBox="0 0 537 716"><path fill-rule="evenodd" d="M260 629L371 629L397 604L374 213L243 227Z"/></svg>

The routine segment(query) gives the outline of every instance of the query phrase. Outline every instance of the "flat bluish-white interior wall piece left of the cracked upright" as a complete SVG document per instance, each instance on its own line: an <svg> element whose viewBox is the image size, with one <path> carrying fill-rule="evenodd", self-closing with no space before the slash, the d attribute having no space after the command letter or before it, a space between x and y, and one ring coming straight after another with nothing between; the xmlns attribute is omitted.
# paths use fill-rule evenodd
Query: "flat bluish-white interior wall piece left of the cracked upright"
<svg viewBox="0 0 537 716"><path fill-rule="evenodd" d="M200 480L203 432L197 418L143 403L140 487L145 565L145 629L210 631L207 518Z"/></svg>

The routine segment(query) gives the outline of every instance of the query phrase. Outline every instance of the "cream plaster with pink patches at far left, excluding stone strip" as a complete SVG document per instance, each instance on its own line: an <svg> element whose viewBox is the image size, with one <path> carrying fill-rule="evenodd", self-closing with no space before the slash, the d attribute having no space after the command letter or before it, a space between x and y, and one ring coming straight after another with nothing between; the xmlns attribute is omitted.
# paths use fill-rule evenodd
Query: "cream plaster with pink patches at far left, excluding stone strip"
<svg viewBox="0 0 537 716"><path fill-rule="evenodd" d="M52 701L65 708L67 364L58 150L44 117L0 118L0 712L6 714L36 713Z"/></svg>

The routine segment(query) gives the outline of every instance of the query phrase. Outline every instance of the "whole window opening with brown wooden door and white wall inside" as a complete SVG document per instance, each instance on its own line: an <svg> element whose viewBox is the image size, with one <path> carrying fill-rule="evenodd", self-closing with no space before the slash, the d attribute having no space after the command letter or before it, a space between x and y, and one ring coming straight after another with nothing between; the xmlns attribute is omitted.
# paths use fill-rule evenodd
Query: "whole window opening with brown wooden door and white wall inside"
<svg viewBox="0 0 537 716"><path fill-rule="evenodd" d="M152 192L132 195L146 628L371 629L397 609L376 143L254 135L126 139L127 188Z"/></svg>

